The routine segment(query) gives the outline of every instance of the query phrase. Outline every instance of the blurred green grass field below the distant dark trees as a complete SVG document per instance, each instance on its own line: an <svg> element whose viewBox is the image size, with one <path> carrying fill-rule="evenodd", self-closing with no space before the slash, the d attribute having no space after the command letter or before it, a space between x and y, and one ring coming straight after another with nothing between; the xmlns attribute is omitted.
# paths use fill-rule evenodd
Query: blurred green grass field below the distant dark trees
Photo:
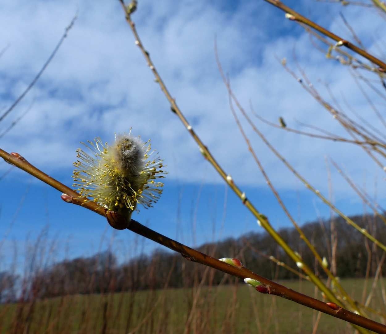
<svg viewBox="0 0 386 334"><path fill-rule="evenodd" d="M314 296L308 281L281 284ZM342 285L361 300L364 279ZM366 296L371 291L367 284ZM318 298L321 299L320 294ZM366 297L367 298L367 297ZM384 312L378 282L369 307ZM367 312L367 314L370 314ZM280 297L262 295L244 283L208 288L73 295L0 306L1 333L312 333L318 312ZM376 315L374 320L383 319ZM382 319L382 320L381 320ZM322 314L317 333L352 332Z"/></svg>

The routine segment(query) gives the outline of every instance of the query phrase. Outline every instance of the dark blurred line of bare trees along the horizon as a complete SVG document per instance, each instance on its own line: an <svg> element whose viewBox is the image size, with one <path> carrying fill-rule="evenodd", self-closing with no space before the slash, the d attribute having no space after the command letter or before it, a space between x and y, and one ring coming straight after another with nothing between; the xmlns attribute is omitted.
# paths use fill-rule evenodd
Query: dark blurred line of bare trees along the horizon
<svg viewBox="0 0 386 334"><path fill-rule="evenodd" d="M386 225L378 218L353 216L351 219L361 228L366 228L378 240L386 244ZM336 274L341 278L364 277L366 270L374 274L380 252L367 242L361 233L350 227L342 218L334 221L336 240ZM331 263L331 222L307 223L302 227L308 240L321 256ZM322 269L315 266L315 258L300 239L295 228L282 228L279 232L287 244L296 250L303 260L324 277ZM298 271L291 259L278 248L267 233L248 233L238 239L229 238L216 244L204 244L198 250L216 258L236 257L252 271L270 279L294 279L295 273L269 259L279 261ZM386 274L383 266L382 274ZM8 273L0 273L0 298L5 300L12 290L15 296L15 279ZM111 252L102 252L92 257L79 257L59 262L30 275L28 281L21 279L19 290L25 298L44 298L68 294L104 293L107 291L135 291L143 289L190 287L199 284L218 285L235 278L214 269L187 261L181 255L157 249L151 255L142 254L131 261L118 264Z"/></svg>

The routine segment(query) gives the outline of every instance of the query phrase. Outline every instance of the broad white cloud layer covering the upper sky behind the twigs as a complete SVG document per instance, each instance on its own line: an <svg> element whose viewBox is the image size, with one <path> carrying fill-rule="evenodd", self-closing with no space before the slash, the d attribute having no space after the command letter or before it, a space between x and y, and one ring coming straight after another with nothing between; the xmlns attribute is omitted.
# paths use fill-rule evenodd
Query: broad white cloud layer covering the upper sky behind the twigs
<svg viewBox="0 0 386 334"><path fill-rule="evenodd" d="M79 141L94 136L112 140L114 132L132 127L145 140L152 138L154 148L169 166L174 166L175 159L179 178L201 180L206 162L153 82L119 2L0 2L0 46L12 44L0 59L2 105L8 105L32 80L77 6L79 18L58 55L33 92L4 123L9 124L36 97L30 113L3 138L2 148L20 152L41 169L55 172L71 165ZM335 13L332 16L337 17ZM364 38L371 31L370 20L379 36L384 32L380 19L363 10L348 9L346 18ZM186 118L237 182L256 186L265 183L229 111L226 89L215 63L215 34L223 68L230 73L233 90L246 110L251 99L256 111L271 121L283 116L289 125L298 127L293 121L296 118L344 133L276 61L274 55L286 56L289 66L295 68L291 60L295 44L300 66L324 97L330 100L318 78L329 83L342 105L341 91L369 122L379 124L347 69L325 60L308 36L296 30L295 22L284 20L282 12L264 2L245 2L231 12L204 1L141 1L133 19ZM337 19L330 28L338 31L340 27L334 22ZM277 24L289 31L282 31ZM370 43L368 48L374 50L375 44ZM374 93L369 94L379 101ZM381 109L384 101L380 103ZM325 154L349 166L354 177L361 178L364 169L369 173L375 170L372 160L352 145L291 135L257 120L256 124L279 152L320 189L327 189ZM245 129L274 184L293 188L295 181L288 170L250 128ZM175 176L173 169L170 167L169 177ZM334 182L340 194L346 195L349 190L344 181L336 178Z"/></svg>

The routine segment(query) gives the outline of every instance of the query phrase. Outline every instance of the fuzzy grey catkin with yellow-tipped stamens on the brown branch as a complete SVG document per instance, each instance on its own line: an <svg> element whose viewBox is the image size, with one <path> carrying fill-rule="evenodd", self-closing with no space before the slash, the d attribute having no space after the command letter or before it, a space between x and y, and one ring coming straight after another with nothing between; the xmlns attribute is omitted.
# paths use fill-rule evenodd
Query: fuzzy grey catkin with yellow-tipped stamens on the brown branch
<svg viewBox="0 0 386 334"><path fill-rule="evenodd" d="M112 145L103 145L100 138L84 144L74 162L74 187L81 196L92 197L107 210L117 211L130 220L137 203L151 207L162 193L163 160L158 153L149 153L150 140L142 142L132 135L116 135ZM151 157L152 154L155 157Z"/></svg>

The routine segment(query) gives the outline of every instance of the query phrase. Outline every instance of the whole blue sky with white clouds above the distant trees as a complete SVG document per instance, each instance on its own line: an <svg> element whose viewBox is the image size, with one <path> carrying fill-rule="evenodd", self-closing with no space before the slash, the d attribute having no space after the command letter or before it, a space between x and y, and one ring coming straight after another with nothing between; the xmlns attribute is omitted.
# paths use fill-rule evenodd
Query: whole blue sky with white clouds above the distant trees
<svg viewBox="0 0 386 334"><path fill-rule="evenodd" d="M358 36L365 37L369 51L380 54L384 42L379 36L385 31L384 21L376 12L305 0L286 4L352 40L339 17L342 10ZM1 148L20 153L47 174L71 185L72 163L80 141L95 136L111 141L114 133L132 128L134 135L151 138L152 147L164 158L169 172L159 203L151 210L141 210L134 219L173 238L179 231L178 239L188 245L211 241L213 226L217 239L225 185L170 112L134 44L118 1L0 1L0 48L10 44L0 58L1 107L9 106L34 78L75 12L78 19L52 63L0 124L6 128L33 102L29 113L1 139ZM344 134L276 60L286 57L296 71L295 49L300 66L323 97L331 101L323 85L328 83L339 102L345 96L357 112L384 130L347 68L327 60L301 27L264 1L140 0L133 20L157 70L196 133L274 227L289 226L289 221L269 192L232 117L215 62L215 36L222 66L245 109L249 109L251 100L256 111L273 122L283 116L291 127L301 128L297 119ZM374 92L368 94L382 110L384 102ZM379 203L384 202L383 172L361 149L300 137L255 121L279 152L323 194L328 194L327 156L345 166L358 184L366 182L369 194L376 190ZM315 220L315 206L327 218L328 208L306 191L250 128L246 132L295 219L300 223ZM0 172L8 168L3 163ZM337 206L347 214L362 213L361 201L330 168ZM7 234L28 184L25 201ZM47 240L58 240L58 259L66 253L66 247L69 257L96 252L102 236L103 247L112 244L122 259L133 254L132 232L106 228L103 218L64 203L57 191L31 181L24 172L12 170L0 187L4 194L0 235L6 236L1 249L5 262L12 258L14 244L22 256L26 238L34 240L47 223ZM221 237L238 237L247 231L259 231L259 227L229 189ZM147 241L144 247L151 251L155 245Z"/></svg>

